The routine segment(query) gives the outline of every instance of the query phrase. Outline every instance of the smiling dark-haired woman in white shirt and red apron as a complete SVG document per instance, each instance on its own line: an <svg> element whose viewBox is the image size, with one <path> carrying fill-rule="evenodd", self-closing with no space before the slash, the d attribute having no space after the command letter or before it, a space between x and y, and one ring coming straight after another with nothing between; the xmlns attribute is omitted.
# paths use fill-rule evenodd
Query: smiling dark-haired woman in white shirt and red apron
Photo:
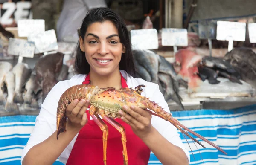
<svg viewBox="0 0 256 165"><path fill-rule="evenodd" d="M67 132L56 139L56 110L64 91L77 84L99 87L143 88L143 96L151 98L169 112L157 84L133 78L134 63L131 43L122 18L111 9L91 10L80 28L75 69L79 73L60 81L41 105L35 128L23 150L23 165L51 165L58 157L67 165L103 165L102 130L87 114L88 100L74 100L66 109ZM121 74L120 74L121 73ZM177 129L169 122L151 116L138 107L120 111L115 119L125 128L129 165L147 165L150 151L164 165L188 165L189 153L183 148ZM130 114L130 115L129 115ZM109 130L108 165L123 165L121 134L106 122Z"/></svg>

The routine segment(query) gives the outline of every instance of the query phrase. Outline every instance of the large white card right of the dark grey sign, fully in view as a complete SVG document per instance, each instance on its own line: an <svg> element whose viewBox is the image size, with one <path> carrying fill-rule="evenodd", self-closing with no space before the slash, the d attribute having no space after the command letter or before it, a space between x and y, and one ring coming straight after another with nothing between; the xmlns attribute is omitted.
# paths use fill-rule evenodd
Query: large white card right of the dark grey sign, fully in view
<svg viewBox="0 0 256 165"><path fill-rule="evenodd" d="M245 41L246 23L217 21L217 40Z"/></svg>

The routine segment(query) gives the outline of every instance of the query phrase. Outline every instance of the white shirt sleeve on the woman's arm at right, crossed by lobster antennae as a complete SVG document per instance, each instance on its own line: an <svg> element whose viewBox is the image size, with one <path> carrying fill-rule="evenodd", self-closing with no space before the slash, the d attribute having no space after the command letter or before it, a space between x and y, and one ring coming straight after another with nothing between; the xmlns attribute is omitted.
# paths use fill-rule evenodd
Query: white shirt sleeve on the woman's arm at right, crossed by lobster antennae
<svg viewBox="0 0 256 165"><path fill-rule="evenodd" d="M170 113L169 106L167 102L164 99L163 94L159 90L158 84L152 85L150 88L152 92L148 92L149 99L151 101L155 101L158 105L160 105L166 112ZM157 116L152 116L152 125L158 130L158 132L165 137L169 142L171 142L173 145L176 145L183 149L183 151L186 153L186 156L188 160L190 161L190 155L189 152L186 150L184 147L181 139L180 139L180 134L177 132L177 128L173 126L170 122L157 117Z"/></svg>

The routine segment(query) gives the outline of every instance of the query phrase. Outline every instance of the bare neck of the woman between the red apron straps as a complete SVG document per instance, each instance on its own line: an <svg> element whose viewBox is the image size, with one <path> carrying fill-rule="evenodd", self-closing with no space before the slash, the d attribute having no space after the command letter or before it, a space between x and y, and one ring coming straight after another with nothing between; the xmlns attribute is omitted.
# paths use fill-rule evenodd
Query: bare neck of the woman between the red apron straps
<svg viewBox="0 0 256 165"><path fill-rule="evenodd" d="M112 72L109 75L99 75L93 70L90 71L90 84L94 86L99 86L102 88L105 87L115 87L115 88L121 88L121 74L119 70L116 70Z"/></svg>

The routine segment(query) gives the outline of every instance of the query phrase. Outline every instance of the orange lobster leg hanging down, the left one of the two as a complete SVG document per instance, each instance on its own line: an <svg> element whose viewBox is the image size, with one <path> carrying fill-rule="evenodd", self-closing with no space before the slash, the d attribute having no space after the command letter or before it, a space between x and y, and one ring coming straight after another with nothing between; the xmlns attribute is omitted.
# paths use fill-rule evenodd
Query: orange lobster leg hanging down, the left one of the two
<svg viewBox="0 0 256 165"><path fill-rule="evenodd" d="M96 112L96 107L93 105L90 106L90 116L92 116L93 121L99 126L99 128L103 132L102 140L103 140L103 161L104 165L107 165L107 140L108 140L108 126L103 122L103 120L99 117Z"/></svg>

